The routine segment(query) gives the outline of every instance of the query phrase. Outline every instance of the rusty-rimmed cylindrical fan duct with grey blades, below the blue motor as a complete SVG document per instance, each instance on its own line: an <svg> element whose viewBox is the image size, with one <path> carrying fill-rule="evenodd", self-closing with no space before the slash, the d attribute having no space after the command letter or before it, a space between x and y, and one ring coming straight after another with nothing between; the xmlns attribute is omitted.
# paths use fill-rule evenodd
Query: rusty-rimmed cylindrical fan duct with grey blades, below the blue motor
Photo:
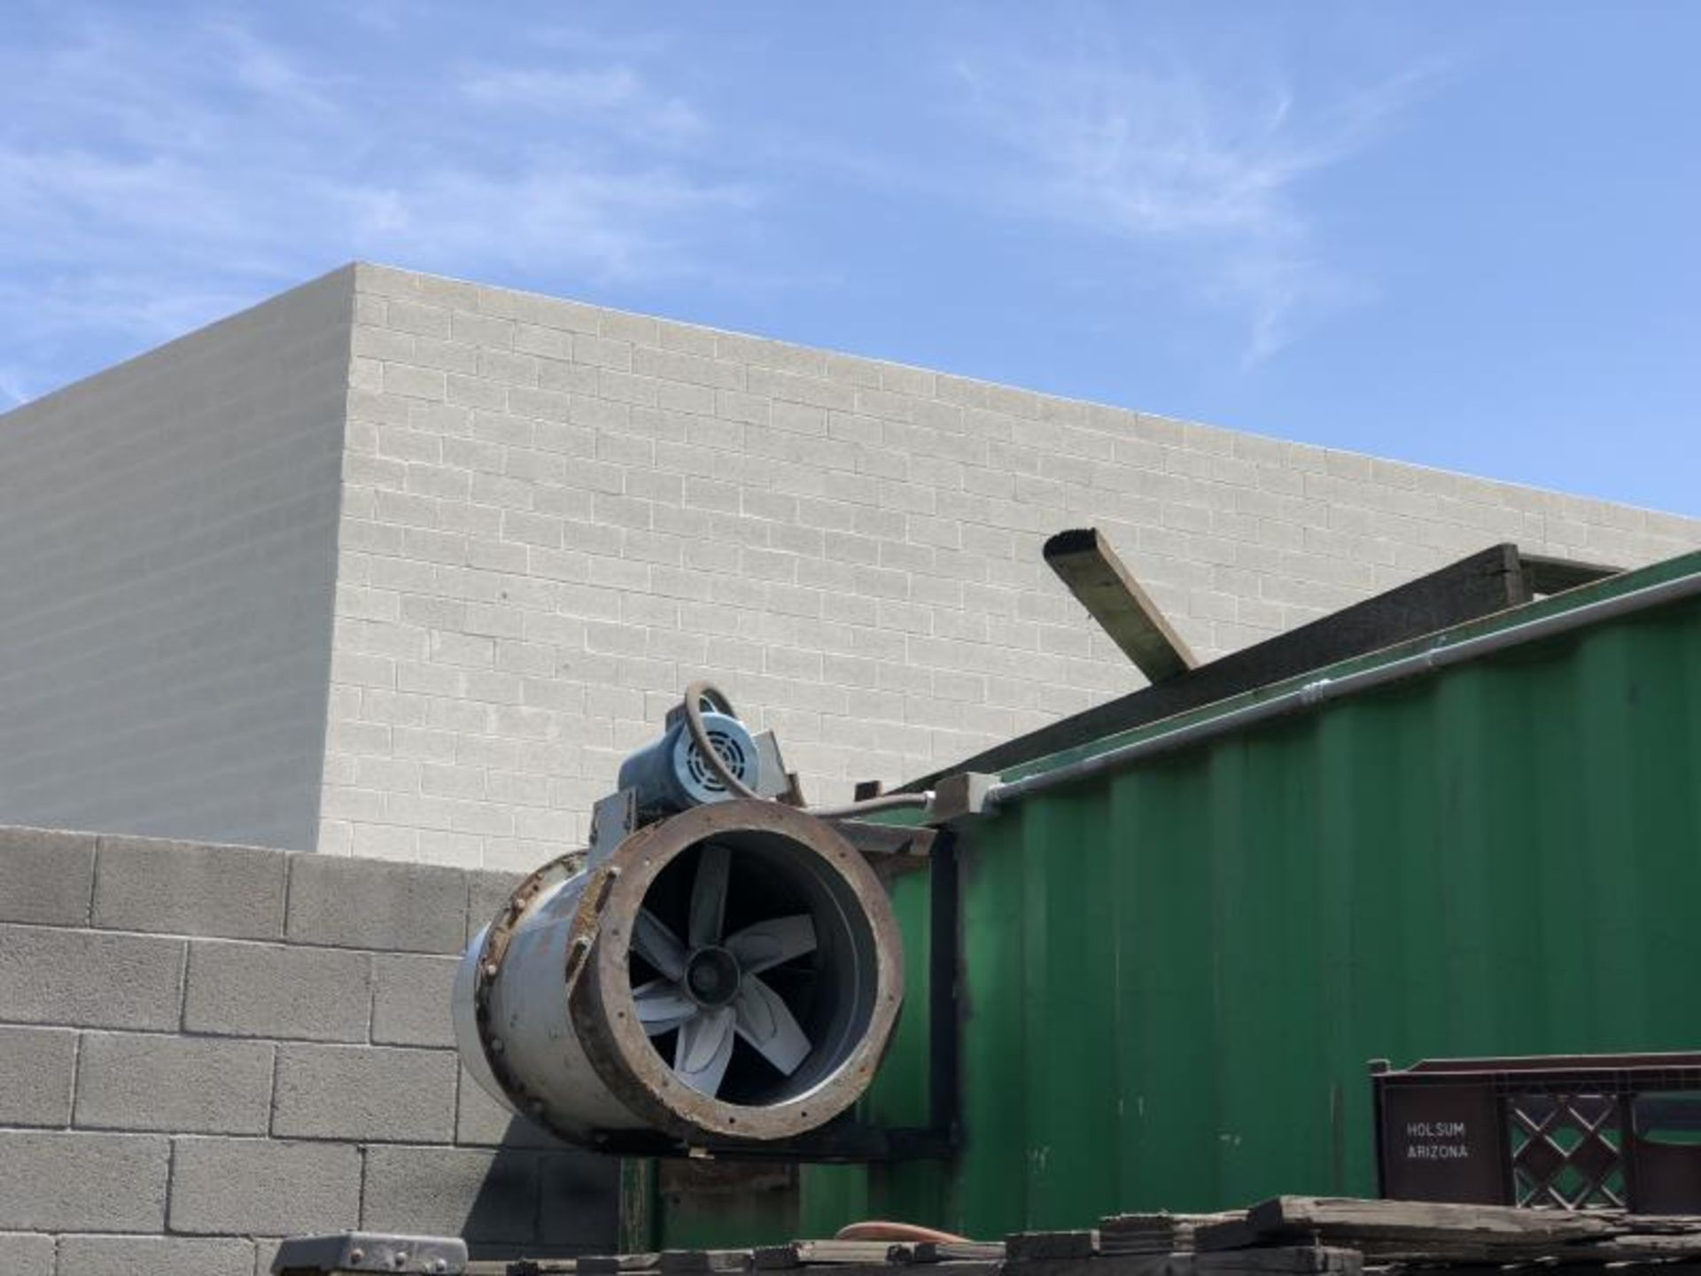
<svg viewBox="0 0 1701 1276"><path fill-rule="evenodd" d="M733 800L522 883L461 963L454 1026L492 1096L577 1143L781 1140L856 1102L902 997L861 854L793 806Z"/></svg>

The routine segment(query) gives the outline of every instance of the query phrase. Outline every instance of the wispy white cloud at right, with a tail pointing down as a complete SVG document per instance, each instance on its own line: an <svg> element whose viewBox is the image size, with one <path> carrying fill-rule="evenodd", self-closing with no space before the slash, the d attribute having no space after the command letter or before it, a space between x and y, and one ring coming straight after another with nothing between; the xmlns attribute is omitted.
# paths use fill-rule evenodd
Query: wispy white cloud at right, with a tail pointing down
<svg viewBox="0 0 1701 1276"><path fill-rule="evenodd" d="M1431 80L1410 73L1301 111L1279 80L1213 82L1114 44L954 70L981 128L1017 155L1017 172L997 180L1002 201L1160 255L1237 318L1247 366L1369 296L1330 264L1301 187L1376 141Z"/></svg>

